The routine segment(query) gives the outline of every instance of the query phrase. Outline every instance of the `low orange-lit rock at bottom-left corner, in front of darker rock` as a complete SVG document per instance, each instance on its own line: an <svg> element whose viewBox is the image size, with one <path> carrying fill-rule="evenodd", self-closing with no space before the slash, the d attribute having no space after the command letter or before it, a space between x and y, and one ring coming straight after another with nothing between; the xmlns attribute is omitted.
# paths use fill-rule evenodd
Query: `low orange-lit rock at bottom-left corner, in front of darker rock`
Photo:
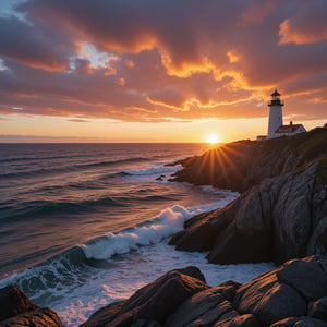
<svg viewBox="0 0 327 327"><path fill-rule="evenodd" d="M0 322L1 327L63 327L62 322L49 307L26 311L20 315Z"/></svg>

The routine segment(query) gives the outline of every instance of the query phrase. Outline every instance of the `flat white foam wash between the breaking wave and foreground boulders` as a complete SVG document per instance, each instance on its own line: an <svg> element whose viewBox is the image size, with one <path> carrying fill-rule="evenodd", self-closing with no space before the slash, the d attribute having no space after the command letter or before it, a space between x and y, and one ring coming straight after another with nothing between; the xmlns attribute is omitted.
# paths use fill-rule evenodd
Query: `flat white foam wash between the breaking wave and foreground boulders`
<svg viewBox="0 0 327 327"><path fill-rule="evenodd" d="M207 263L205 255L174 251L167 242L138 247L136 252L117 257L108 270L89 276L87 283L66 290L64 300L53 303L52 307L65 326L76 326L100 307L130 298L140 288L174 268L197 266L210 286L229 279L244 283L274 268L271 263L213 265Z"/></svg>

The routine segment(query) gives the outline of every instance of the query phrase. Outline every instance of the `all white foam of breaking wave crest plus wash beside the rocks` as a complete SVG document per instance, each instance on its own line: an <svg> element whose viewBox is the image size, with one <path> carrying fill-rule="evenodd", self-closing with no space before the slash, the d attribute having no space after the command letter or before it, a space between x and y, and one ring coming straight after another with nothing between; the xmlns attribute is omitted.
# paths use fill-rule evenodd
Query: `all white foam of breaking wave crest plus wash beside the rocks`
<svg viewBox="0 0 327 327"><path fill-rule="evenodd" d="M72 269L63 280L71 275L76 280L72 278L64 284L60 269L53 268L51 272L59 282L39 290L31 299L52 307L69 327L82 324L105 305L130 298L140 288L174 268L197 266L210 286L227 279L246 282L274 265L211 265L207 264L204 253L178 252L167 244L168 237L182 229L185 219L225 206L235 197L235 193L226 193L223 198L210 204L192 208L175 205L153 220L81 245L88 258L105 259L105 266ZM34 269L31 272L41 274Z"/></svg>

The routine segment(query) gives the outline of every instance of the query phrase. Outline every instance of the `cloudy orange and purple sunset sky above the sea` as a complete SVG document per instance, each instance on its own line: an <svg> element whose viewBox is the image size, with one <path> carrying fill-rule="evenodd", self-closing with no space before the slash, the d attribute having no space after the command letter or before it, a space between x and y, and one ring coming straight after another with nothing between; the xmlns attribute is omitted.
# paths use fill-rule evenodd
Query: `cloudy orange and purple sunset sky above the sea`
<svg viewBox="0 0 327 327"><path fill-rule="evenodd" d="M326 0L1 0L0 142L230 142L327 122Z"/></svg>

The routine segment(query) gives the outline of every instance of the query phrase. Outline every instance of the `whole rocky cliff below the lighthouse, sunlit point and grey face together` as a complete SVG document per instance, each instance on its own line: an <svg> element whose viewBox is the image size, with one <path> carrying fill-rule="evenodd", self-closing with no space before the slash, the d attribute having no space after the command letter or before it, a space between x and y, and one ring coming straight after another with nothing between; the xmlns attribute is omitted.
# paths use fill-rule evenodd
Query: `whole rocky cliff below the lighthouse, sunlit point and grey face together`
<svg viewBox="0 0 327 327"><path fill-rule="evenodd" d="M231 155L222 160L213 152ZM179 177L202 169L207 173L203 179L197 174L196 183L247 191L229 206L186 221L170 241L177 250L208 252L208 261L217 264L281 264L327 254L327 129L232 143L185 160L184 166Z"/></svg>

